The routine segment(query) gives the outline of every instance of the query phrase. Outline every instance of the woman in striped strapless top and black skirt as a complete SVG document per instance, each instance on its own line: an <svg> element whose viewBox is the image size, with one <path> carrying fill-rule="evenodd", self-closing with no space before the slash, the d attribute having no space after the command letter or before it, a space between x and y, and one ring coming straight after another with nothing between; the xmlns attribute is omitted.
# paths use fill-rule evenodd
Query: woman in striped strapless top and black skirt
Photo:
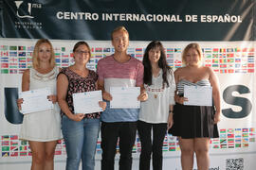
<svg viewBox="0 0 256 170"><path fill-rule="evenodd" d="M169 131L178 137L181 149L183 170L193 167L195 153L197 167L209 169L210 138L218 138L217 123L220 121L220 90L217 76L210 67L201 65L202 52L198 43L190 43L182 54L184 67L174 72L177 87L174 106L174 126ZM183 97L184 86L212 87L212 106L184 105L188 98Z"/></svg>

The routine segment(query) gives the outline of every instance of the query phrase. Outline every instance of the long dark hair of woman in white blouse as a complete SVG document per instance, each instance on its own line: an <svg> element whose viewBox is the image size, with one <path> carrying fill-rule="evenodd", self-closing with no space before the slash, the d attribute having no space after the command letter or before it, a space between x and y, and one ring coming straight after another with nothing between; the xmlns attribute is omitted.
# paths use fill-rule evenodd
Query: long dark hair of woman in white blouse
<svg viewBox="0 0 256 170"><path fill-rule="evenodd" d="M167 84L167 87L169 87L169 82L167 79L167 72L173 72L172 68L170 68L167 64L166 61L166 55L165 55L165 50L161 42L158 41L153 41L150 42L145 50L144 56L143 56L143 65L144 65L144 83L147 85L152 85L152 66L151 62L149 59L149 51L151 49L159 49L161 52L160 59L158 60L158 66L162 69L163 71L163 87L164 84Z"/></svg>

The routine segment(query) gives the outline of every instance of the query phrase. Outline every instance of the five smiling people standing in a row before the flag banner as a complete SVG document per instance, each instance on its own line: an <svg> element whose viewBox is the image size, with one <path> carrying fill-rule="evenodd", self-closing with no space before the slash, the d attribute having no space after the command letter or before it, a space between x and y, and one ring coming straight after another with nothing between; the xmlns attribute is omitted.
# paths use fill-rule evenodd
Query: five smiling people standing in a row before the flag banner
<svg viewBox="0 0 256 170"><path fill-rule="evenodd" d="M98 62L97 73L86 68L91 51L86 42L73 48L74 64L60 69L55 66L53 47L48 40L36 42L33 67L22 78L22 91L48 87L48 100L54 109L24 115L20 139L27 140L32 154L32 170L54 168L57 141L64 138L66 170L93 170L96 145L101 129L101 169L114 170L119 143L119 169L132 169L132 148L136 135L141 142L139 169L162 169L162 145L166 132L178 137L181 165L191 170L193 154L198 169L209 169L210 138L218 137L220 92L217 77L210 67L202 66L202 52L197 43L183 51L184 67L173 71L167 64L161 42L150 42L143 61L127 54L129 33L119 26L111 34L113 55ZM211 86L212 106L187 106L184 86ZM140 109L112 109L110 87L139 87ZM74 113L73 93L101 90L102 112ZM23 99L17 100L22 110ZM86 105L86 103L84 103ZM60 109L59 107L60 106Z"/></svg>

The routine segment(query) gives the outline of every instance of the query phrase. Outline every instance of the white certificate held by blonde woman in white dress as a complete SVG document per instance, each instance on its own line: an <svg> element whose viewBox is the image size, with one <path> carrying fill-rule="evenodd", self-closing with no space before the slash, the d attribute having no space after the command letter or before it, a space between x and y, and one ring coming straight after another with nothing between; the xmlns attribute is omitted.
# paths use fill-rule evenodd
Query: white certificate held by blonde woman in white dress
<svg viewBox="0 0 256 170"><path fill-rule="evenodd" d="M37 89L27 92L20 92L19 98L23 98L23 103L21 105L21 112L23 114L50 110L53 109L52 101L47 99L47 95L50 95L50 89Z"/></svg>

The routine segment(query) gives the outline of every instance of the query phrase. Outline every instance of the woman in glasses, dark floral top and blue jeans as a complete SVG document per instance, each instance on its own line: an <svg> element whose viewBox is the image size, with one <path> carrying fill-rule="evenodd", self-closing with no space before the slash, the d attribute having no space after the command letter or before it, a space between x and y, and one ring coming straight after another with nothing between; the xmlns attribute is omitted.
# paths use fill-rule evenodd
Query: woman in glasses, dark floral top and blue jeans
<svg viewBox="0 0 256 170"><path fill-rule="evenodd" d="M100 112L74 114L73 93L97 90L98 75L86 68L90 47L77 42L73 48L75 64L64 68L57 79L58 101L62 112L62 130L66 145L66 170L77 170L82 159L83 170L93 170L95 151L100 131ZM86 105L86 103L84 103ZM99 102L101 108L105 102Z"/></svg>

